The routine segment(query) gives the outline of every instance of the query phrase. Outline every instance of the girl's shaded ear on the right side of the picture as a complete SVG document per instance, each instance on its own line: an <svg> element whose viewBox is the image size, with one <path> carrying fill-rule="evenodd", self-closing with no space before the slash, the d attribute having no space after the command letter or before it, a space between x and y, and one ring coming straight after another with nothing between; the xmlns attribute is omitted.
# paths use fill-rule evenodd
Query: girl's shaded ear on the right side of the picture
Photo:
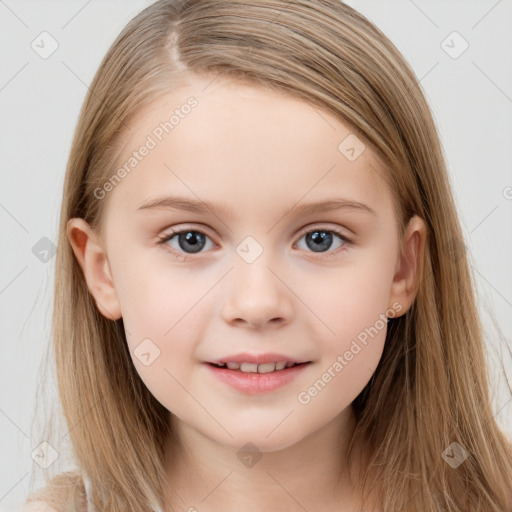
<svg viewBox="0 0 512 512"><path fill-rule="evenodd" d="M402 305L400 314L396 317L405 314L416 298L419 272L423 265L426 231L425 222L417 215L410 219L405 230L403 252L397 258L388 305L389 308L395 302Z"/></svg>

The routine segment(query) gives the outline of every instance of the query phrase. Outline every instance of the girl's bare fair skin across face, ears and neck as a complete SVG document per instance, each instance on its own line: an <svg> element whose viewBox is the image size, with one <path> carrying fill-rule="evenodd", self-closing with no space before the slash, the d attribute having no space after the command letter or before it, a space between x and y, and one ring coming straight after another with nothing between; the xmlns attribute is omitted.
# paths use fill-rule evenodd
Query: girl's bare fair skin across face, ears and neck
<svg viewBox="0 0 512 512"><path fill-rule="evenodd" d="M168 510L358 510L357 482L343 462L355 424L351 403L377 367L386 329L307 404L298 395L381 315L410 308L425 225L411 219L400 254L382 171L369 148L354 161L339 151L352 130L332 114L242 82L208 84L189 76L132 121L118 166L173 109L190 96L198 101L102 199L101 231L69 221L70 243L98 310L123 317L137 372L172 412L178 441L166 445ZM169 194L230 212L137 211ZM334 197L375 214L292 211ZM186 252L183 237L185 249L177 236L159 245L170 228L205 232L201 252ZM333 235L315 252L305 234L319 228L338 229L352 242ZM263 249L251 263L236 252L247 236ZM147 338L160 351L148 366L134 355ZM203 364L270 351L312 363L258 396L228 387ZM250 467L237 457L247 442L261 455ZM358 447L355 467L365 456Z"/></svg>

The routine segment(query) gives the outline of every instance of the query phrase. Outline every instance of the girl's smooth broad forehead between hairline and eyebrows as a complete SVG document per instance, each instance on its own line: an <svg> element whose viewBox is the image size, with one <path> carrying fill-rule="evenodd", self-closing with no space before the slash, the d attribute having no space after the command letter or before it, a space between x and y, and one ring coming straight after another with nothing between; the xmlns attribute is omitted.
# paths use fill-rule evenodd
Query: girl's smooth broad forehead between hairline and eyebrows
<svg viewBox="0 0 512 512"><path fill-rule="evenodd" d="M374 155L349 125L290 95L223 78L189 77L135 117L120 168L127 172L109 202L130 211L166 193L239 214L277 213L327 194L364 197L376 209L390 200Z"/></svg>

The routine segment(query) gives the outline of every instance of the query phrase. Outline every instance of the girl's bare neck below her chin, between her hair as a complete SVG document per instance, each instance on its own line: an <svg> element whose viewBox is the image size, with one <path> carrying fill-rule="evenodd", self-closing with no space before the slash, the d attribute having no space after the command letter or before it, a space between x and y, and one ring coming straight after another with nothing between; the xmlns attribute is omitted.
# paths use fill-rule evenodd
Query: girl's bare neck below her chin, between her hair
<svg viewBox="0 0 512 512"><path fill-rule="evenodd" d="M171 425L175 439L166 448L166 510L356 510L356 482L350 475L357 474L363 457L355 447L349 475L345 459L355 427L351 406L300 442L255 452L252 459L250 452L220 445L175 416Z"/></svg>

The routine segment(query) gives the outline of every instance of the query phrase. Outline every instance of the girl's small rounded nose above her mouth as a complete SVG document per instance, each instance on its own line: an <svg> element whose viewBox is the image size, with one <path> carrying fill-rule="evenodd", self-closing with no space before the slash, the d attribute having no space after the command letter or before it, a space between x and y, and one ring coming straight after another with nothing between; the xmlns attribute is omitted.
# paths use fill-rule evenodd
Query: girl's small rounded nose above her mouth
<svg viewBox="0 0 512 512"><path fill-rule="evenodd" d="M290 284L284 283L286 279L269 267L263 255L252 263L237 261L226 283L223 319L252 329L288 324L293 315L293 293Z"/></svg>

